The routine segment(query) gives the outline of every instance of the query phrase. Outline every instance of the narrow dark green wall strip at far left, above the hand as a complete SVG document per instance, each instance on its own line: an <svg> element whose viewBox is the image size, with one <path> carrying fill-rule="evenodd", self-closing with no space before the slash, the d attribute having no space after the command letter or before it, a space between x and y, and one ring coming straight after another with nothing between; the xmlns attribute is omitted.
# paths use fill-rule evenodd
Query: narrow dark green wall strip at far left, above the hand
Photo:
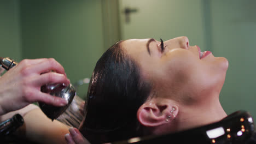
<svg viewBox="0 0 256 144"><path fill-rule="evenodd" d="M21 60L19 1L0 1L0 56Z"/></svg>

